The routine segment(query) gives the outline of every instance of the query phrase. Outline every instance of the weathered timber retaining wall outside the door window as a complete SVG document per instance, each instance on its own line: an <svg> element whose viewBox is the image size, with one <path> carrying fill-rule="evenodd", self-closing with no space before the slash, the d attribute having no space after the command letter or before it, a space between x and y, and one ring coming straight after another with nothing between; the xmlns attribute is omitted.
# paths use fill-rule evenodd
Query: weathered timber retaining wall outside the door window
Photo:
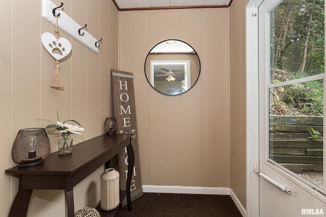
<svg viewBox="0 0 326 217"><path fill-rule="evenodd" d="M304 170L323 171L321 116L269 117L269 158L285 168L300 173ZM310 139L311 127L321 135Z"/></svg>

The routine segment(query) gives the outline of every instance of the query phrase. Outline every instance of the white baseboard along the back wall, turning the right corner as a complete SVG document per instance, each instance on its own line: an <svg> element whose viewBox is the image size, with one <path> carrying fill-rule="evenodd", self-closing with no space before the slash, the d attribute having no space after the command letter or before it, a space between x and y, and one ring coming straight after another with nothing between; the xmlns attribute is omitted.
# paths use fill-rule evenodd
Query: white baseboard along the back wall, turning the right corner
<svg viewBox="0 0 326 217"><path fill-rule="evenodd" d="M246 209L244 209L244 207L230 188L143 185L143 192L167 194L230 195L242 216L246 216Z"/></svg>

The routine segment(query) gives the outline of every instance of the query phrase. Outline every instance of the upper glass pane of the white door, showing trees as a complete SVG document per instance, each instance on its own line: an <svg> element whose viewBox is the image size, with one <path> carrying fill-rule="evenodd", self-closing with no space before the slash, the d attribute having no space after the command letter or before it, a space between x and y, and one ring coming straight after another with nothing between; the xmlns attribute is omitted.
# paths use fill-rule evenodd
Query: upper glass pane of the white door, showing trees
<svg viewBox="0 0 326 217"><path fill-rule="evenodd" d="M270 83L324 71L324 1L285 0L270 12Z"/></svg>

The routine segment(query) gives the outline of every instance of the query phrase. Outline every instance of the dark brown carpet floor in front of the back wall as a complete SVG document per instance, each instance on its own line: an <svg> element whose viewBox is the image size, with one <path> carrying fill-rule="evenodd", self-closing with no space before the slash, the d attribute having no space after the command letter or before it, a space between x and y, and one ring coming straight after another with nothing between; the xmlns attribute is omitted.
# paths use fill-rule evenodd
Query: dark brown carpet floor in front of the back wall
<svg viewBox="0 0 326 217"><path fill-rule="evenodd" d="M124 206L116 213L124 216L242 216L227 195L157 194L144 193L132 201L132 211Z"/></svg>

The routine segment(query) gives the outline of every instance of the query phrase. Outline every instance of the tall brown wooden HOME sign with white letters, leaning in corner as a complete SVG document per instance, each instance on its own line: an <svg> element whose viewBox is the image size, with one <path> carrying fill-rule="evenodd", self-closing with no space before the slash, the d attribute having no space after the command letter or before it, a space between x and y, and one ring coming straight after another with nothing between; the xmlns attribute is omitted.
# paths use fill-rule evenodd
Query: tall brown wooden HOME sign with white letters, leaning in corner
<svg viewBox="0 0 326 217"><path fill-rule="evenodd" d="M139 162L137 120L133 92L133 75L129 72L111 70L113 102L115 117L118 122L118 133L131 133L131 144L134 150L134 168L131 178L131 200L143 195L141 167ZM127 148L118 153L120 186L126 186L128 171ZM123 190L123 189L122 189Z"/></svg>

